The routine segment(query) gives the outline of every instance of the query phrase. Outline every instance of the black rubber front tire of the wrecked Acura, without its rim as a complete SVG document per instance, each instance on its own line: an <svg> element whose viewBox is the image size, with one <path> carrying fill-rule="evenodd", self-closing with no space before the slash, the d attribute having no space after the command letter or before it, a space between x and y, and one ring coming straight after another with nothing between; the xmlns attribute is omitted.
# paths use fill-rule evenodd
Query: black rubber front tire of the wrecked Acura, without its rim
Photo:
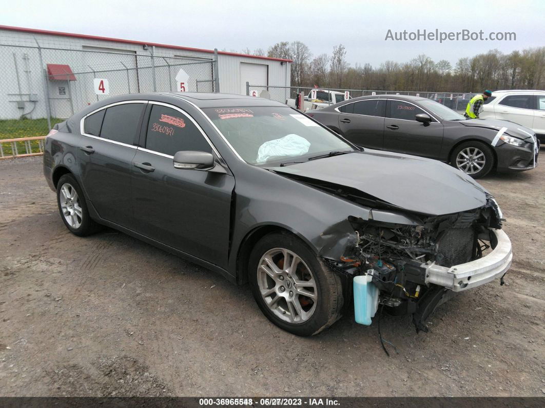
<svg viewBox="0 0 545 408"><path fill-rule="evenodd" d="M263 254L272 248L286 248L301 257L312 270L317 281L318 305L313 315L301 324L290 324L278 319L265 304L257 283L257 267ZM272 233L264 236L253 247L248 263L249 282L257 305L267 318L283 330L298 336L312 336L328 328L341 318L343 306L343 288L341 278L332 272L317 255L295 235L290 233Z"/></svg>

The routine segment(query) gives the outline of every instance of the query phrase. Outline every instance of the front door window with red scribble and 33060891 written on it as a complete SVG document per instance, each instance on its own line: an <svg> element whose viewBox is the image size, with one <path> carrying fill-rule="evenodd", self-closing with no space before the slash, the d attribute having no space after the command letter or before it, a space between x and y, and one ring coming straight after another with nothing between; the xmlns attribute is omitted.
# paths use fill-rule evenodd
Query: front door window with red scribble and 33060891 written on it
<svg viewBox="0 0 545 408"><path fill-rule="evenodd" d="M163 105L153 105L149 115L146 149L174 156L177 151L212 153L201 131L183 113Z"/></svg>

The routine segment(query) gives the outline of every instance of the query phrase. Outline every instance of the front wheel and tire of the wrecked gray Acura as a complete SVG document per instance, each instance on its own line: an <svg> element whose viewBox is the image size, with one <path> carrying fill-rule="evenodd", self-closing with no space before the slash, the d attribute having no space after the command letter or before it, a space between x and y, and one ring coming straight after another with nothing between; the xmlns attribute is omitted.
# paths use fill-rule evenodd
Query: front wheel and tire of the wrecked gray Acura
<svg viewBox="0 0 545 408"><path fill-rule="evenodd" d="M278 327L311 336L341 317L341 278L296 236L264 236L253 248L248 267L253 297Z"/></svg>

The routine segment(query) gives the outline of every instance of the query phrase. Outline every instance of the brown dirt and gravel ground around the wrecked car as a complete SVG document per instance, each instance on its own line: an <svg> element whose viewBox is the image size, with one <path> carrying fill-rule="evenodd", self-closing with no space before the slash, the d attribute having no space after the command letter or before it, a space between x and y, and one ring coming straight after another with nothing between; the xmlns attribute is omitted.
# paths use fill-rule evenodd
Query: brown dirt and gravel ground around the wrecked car
<svg viewBox="0 0 545 408"><path fill-rule="evenodd" d="M541 150L545 159L545 150ZM506 285L409 318L270 324L249 287L107 229L68 232L41 157L0 162L0 395L543 396L545 163L480 181L513 243Z"/></svg>

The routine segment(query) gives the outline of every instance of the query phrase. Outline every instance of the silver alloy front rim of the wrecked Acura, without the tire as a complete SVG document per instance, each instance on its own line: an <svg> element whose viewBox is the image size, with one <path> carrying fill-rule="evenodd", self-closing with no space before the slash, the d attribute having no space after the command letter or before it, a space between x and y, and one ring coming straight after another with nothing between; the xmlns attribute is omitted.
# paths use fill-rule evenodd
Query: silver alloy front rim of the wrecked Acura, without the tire
<svg viewBox="0 0 545 408"><path fill-rule="evenodd" d="M288 249L265 252L257 267L257 284L265 304L288 323L303 323L316 310L316 280L299 255Z"/></svg>

